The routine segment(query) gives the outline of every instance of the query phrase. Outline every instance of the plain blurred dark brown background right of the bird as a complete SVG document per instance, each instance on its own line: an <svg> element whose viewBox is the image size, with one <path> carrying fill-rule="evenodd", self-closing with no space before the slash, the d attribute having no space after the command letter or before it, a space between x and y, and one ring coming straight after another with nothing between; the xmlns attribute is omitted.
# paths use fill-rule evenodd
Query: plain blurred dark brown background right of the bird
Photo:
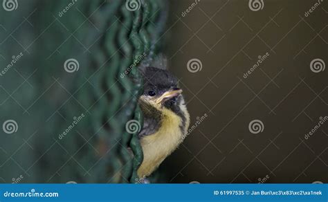
<svg viewBox="0 0 328 202"><path fill-rule="evenodd" d="M246 0L170 3L170 69L191 125L208 118L161 165L168 182L327 183L328 122L316 127L328 116L327 2L259 1L257 11ZM201 61L201 71L188 71L190 59ZM317 73L313 59L326 63ZM264 130L252 134L252 120Z"/></svg>

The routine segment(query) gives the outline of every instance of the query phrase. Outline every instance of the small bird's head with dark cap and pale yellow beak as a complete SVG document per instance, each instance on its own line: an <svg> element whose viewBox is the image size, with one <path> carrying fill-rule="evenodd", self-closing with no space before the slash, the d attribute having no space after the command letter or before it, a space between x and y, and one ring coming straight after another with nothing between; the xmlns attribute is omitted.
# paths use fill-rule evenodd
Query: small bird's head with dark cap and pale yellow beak
<svg viewBox="0 0 328 202"><path fill-rule="evenodd" d="M170 72L154 67L147 67L143 71L144 91L140 101L150 104L156 109L170 109L179 111L182 90L178 87L178 80Z"/></svg>

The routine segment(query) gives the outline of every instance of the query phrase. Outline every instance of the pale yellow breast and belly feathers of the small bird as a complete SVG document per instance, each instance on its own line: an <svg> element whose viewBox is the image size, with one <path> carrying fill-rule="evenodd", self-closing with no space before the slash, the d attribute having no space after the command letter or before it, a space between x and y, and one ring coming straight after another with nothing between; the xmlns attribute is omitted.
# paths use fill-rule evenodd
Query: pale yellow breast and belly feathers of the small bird
<svg viewBox="0 0 328 202"><path fill-rule="evenodd" d="M183 141L183 135L189 127L189 113L184 104L181 104L185 123L182 118L169 109L161 109L161 127L158 131L140 140L143 147L143 163L138 169L138 176L145 177L152 174L154 169L170 155ZM181 130L182 129L182 130Z"/></svg>

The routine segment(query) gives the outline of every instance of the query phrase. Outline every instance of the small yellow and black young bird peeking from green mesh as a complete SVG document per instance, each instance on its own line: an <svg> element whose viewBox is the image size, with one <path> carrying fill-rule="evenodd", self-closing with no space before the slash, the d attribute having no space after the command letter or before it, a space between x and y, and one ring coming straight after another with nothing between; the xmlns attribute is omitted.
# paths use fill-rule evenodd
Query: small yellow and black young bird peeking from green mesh
<svg viewBox="0 0 328 202"><path fill-rule="evenodd" d="M146 178L183 142L188 134L190 114L177 78L167 70L164 55L139 69L144 90L138 103L144 121L138 134L143 162L137 173L139 178Z"/></svg>

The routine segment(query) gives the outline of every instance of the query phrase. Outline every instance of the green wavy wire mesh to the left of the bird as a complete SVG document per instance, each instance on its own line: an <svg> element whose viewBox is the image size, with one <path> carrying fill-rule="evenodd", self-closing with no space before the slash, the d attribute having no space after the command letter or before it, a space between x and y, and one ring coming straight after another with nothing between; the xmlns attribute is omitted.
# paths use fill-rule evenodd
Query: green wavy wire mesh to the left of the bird
<svg viewBox="0 0 328 202"><path fill-rule="evenodd" d="M24 183L137 183L143 152L138 133L125 125L143 125L137 66L161 49L167 3L69 3L19 1L15 13L0 12L0 40L15 35L0 45L1 67L19 51L15 71L34 73L32 87L15 71L0 78L0 90L8 91L0 93L1 124L13 119L19 126L14 136L1 131L0 181L22 175ZM78 61L75 73L63 69L69 58ZM8 101L13 91L19 104Z"/></svg>

